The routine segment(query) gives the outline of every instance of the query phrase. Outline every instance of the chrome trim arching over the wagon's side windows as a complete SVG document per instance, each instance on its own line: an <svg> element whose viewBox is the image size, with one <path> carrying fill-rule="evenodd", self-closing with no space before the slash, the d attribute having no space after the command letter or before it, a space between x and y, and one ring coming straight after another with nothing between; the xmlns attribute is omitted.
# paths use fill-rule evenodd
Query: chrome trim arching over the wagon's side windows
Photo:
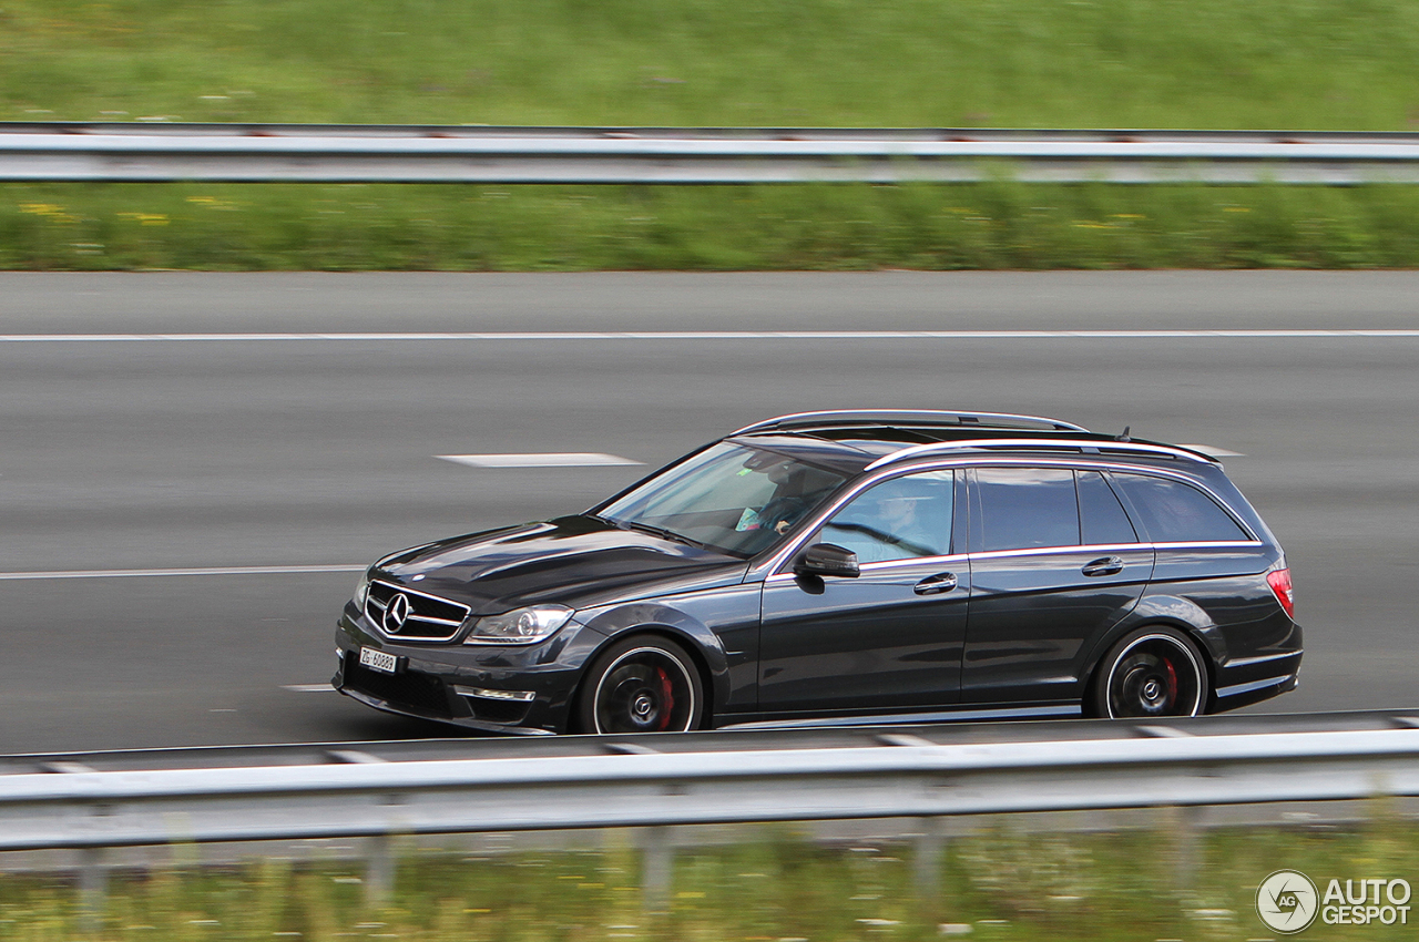
<svg viewBox="0 0 1419 942"><path fill-rule="evenodd" d="M871 468L873 465L868 465ZM965 468L979 468L979 467L1030 467L1030 468L1071 468L1076 471L1121 471L1125 474L1151 474L1159 478L1171 478L1174 481L1181 481L1191 487L1198 488L1226 511L1242 532L1252 535L1250 541L1236 541L1236 542L1215 542L1215 543L1120 543L1127 548L1148 548L1154 549L1179 549L1179 548L1210 548L1210 546L1266 546L1264 541L1256 539L1252 533L1252 528L1246 525L1244 521L1237 518L1232 511L1230 505L1222 499L1206 484L1178 471L1169 468L1139 468L1135 464L1125 464L1121 461L1111 461L1107 455L1088 455L1080 454L1077 457L1069 458L1026 458L1026 457L1007 457L1007 455L951 455L941 457L937 461L925 461L922 464L914 464L905 468L901 467L887 467L880 468L876 474L868 474L857 484L854 484L849 491L839 495L832 504L824 505L819 509L817 515L812 518L812 522L806 525L799 535L786 541L778 550L765 559L765 562L758 565L751 565L744 573L744 582L762 582L768 575L780 575L783 572L783 563L792 559L803 546L807 543L809 535L816 532L833 514L841 509L849 501L856 498L858 494L867 488L885 481L888 478L905 477L908 474L917 474L920 471L956 471ZM1073 548L1063 548L1073 549ZM1016 552L1016 550L993 550L993 552ZM956 553L961 555L961 553ZM969 553L965 553L969 556ZM868 563L871 565L871 563Z"/></svg>

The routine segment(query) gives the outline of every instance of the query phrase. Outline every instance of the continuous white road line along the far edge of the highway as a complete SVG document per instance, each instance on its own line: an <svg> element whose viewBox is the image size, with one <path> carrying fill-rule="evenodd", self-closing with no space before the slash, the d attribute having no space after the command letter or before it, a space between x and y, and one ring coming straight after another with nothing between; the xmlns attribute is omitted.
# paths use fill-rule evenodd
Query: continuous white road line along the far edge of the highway
<svg viewBox="0 0 1419 942"><path fill-rule="evenodd" d="M548 331L526 333L3 333L0 343L268 340L1169 340L1419 338L1419 329L1335 331Z"/></svg>

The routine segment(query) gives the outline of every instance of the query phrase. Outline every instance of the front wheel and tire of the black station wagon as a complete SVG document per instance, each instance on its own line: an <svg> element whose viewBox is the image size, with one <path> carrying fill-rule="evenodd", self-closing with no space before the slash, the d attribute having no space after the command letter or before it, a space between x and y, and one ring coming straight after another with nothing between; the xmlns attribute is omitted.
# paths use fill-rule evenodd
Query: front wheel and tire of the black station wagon
<svg viewBox="0 0 1419 942"><path fill-rule="evenodd" d="M687 732L705 716L704 684L683 647L639 636L603 651L576 697L578 732Z"/></svg>

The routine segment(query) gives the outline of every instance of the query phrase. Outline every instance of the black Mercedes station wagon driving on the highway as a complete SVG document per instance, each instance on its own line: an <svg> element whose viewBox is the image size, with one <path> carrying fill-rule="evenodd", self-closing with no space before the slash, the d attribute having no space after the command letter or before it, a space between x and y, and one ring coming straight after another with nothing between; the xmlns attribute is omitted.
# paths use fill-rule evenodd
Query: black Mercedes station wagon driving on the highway
<svg viewBox="0 0 1419 942"><path fill-rule="evenodd" d="M333 684L508 732L1191 716L1293 689L1286 556L1213 458L993 413L809 413L583 514L370 566Z"/></svg>

